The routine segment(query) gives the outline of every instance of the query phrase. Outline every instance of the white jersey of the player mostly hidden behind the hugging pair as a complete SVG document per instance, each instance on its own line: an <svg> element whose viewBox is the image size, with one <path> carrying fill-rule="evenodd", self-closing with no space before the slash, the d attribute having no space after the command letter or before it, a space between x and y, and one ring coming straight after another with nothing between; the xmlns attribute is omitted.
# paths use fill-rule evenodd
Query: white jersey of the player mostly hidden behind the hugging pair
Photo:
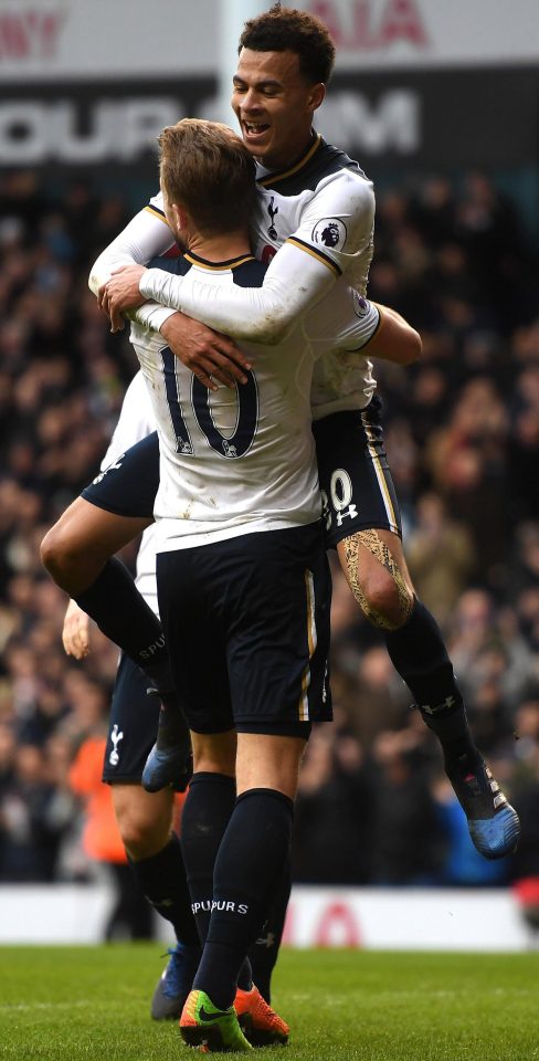
<svg viewBox="0 0 539 1061"><path fill-rule="evenodd" d="M118 422L107 452L101 463L102 472L121 460L126 450L156 430L156 418L142 372L131 379L121 403ZM135 581L151 610L159 614L156 580L156 525L148 527L140 539Z"/></svg>

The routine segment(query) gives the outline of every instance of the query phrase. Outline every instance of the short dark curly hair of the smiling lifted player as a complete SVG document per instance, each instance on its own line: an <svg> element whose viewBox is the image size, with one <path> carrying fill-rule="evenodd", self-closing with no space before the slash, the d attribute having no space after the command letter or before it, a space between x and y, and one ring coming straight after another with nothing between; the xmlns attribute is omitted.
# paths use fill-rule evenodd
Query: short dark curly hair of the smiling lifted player
<svg viewBox="0 0 539 1061"><path fill-rule="evenodd" d="M335 63L335 44L320 19L296 8L274 3L270 11L245 22L237 51L295 52L299 70L311 84L327 84Z"/></svg>

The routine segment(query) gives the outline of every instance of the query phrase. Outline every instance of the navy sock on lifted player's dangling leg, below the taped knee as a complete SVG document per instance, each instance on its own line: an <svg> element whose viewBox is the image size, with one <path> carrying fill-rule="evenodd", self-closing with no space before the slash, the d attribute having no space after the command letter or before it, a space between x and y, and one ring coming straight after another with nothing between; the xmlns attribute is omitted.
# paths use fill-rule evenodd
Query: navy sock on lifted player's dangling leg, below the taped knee
<svg viewBox="0 0 539 1061"><path fill-rule="evenodd" d="M440 627L420 600L415 600L404 626L385 633L385 643L393 666L410 689L423 721L438 737L446 760L476 755Z"/></svg>

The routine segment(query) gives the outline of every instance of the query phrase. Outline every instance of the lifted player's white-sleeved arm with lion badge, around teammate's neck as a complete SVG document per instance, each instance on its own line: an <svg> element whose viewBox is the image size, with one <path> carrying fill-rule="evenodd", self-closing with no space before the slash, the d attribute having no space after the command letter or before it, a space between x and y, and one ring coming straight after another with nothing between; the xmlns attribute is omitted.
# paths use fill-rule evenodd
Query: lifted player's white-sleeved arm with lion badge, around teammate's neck
<svg viewBox="0 0 539 1061"><path fill-rule="evenodd" d="M373 218L370 182L352 174L342 179L340 174L304 211L300 227L273 259L262 287L221 288L197 282L187 292L182 277L148 270L140 277L140 292L234 338L276 344L342 273L352 275L356 263L370 260Z"/></svg>

